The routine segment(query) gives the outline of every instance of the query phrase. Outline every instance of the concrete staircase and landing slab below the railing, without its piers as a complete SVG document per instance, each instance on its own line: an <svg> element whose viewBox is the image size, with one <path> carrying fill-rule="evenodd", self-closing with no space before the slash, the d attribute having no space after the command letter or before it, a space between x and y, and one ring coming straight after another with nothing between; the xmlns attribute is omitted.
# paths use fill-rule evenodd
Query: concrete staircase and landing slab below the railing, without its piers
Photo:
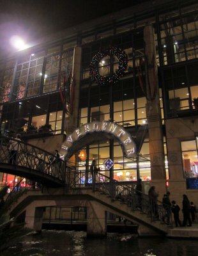
<svg viewBox="0 0 198 256"><path fill-rule="evenodd" d="M97 188L93 191L89 189L44 189L29 190L22 195L10 209L10 216L17 218L22 212L26 211L27 207L47 207L56 205L73 205L80 204L88 205L88 202L95 201L107 212L121 216L126 220L132 221L139 226L139 235L151 236L151 235L163 235L167 234L169 228L163 221L154 220L148 214L144 213L140 209L133 209L132 205L123 202L120 199L112 200L112 197L106 193L102 188Z"/></svg>

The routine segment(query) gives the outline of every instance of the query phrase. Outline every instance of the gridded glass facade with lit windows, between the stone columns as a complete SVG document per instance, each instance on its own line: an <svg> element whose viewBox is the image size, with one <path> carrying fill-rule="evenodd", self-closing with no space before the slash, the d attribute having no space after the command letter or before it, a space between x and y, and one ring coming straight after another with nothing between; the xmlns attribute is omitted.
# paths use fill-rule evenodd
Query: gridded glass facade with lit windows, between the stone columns
<svg viewBox="0 0 198 256"><path fill-rule="evenodd" d="M114 161L114 179L135 181L139 177L151 179L149 139L146 117L145 83L139 82L137 67L146 63L144 26L152 24L155 34L156 64L162 124L178 115L194 115L198 108L194 99L198 97L198 10L196 6L181 3L176 6L161 6L142 17L114 20L105 26L100 24L73 38L54 45L43 45L40 51L6 61L1 72L1 131L28 131L49 124L54 134L67 131L66 115L59 88L63 76L72 74L74 47L82 47L80 67L80 99L78 125L92 121L109 120L121 125L132 136L137 136L142 127L142 140L138 148L139 157L128 159L118 141L107 138L86 147L87 161L96 159L105 175L111 170L103 168L109 158ZM75 33L75 32L73 32ZM90 62L96 53L109 46L121 48L128 57L128 67L118 83L100 86L89 77ZM75 63L74 63L75 64ZM110 76L119 68L117 56L105 56L98 64L101 76ZM143 82L145 70L142 71ZM67 92L66 92L67 93ZM189 114L191 113L191 114ZM22 129L22 130L21 130ZM167 179L169 178L165 129L164 153ZM193 142L194 141L194 142ZM185 177L196 171L197 144L195 138L181 142ZM189 145L189 148L188 148ZM192 146L192 147L191 147ZM189 161L187 161L189 160ZM187 164L188 162L188 164ZM188 166L188 168L187 168ZM80 169L86 169L86 166ZM193 174L195 175L195 174ZM195 177L195 176L193 176Z"/></svg>

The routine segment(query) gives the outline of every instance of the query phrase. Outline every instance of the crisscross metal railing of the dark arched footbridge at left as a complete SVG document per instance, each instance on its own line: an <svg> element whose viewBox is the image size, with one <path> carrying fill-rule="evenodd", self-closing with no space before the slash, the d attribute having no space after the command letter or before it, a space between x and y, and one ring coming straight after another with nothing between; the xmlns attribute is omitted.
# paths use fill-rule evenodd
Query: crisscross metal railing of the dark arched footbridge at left
<svg viewBox="0 0 198 256"><path fill-rule="evenodd" d="M24 141L0 137L0 162L24 166L43 172L59 180L66 179L66 162L49 152Z"/></svg>

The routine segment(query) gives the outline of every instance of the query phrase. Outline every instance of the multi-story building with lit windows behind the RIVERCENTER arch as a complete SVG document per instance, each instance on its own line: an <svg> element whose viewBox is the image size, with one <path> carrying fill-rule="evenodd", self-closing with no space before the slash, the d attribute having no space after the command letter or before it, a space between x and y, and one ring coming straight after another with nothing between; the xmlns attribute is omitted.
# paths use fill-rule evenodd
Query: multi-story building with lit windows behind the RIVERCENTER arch
<svg viewBox="0 0 198 256"><path fill-rule="evenodd" d="M123 71L123 51L126 70L109 81L104 77ZM172 199L187 194L198 204L197 56L195 0L147 1L57 31L1 59L1 133L20 132L54 152L77 127L112 122L132 136L135 156L98 132L73 147L68 162L88 171L96 159L113 179L141 177L161 197L168 186ZM45 124L50 131L41 132ZM107 170L109 158L114 165ZM1 175L3 182L14 180Z"/></svg>

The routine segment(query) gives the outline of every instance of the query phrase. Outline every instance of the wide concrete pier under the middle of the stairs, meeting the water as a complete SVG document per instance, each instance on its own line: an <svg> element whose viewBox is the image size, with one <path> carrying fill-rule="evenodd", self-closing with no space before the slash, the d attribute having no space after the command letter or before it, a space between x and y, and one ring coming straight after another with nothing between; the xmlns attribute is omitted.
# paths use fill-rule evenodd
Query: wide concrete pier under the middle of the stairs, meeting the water
<svg viewBox="0 0 198 256"><path fill-rule="evenodd" d="M107 212L102 205L90 201L87 208L87 235L90 237L107 235Z"/></svg>

